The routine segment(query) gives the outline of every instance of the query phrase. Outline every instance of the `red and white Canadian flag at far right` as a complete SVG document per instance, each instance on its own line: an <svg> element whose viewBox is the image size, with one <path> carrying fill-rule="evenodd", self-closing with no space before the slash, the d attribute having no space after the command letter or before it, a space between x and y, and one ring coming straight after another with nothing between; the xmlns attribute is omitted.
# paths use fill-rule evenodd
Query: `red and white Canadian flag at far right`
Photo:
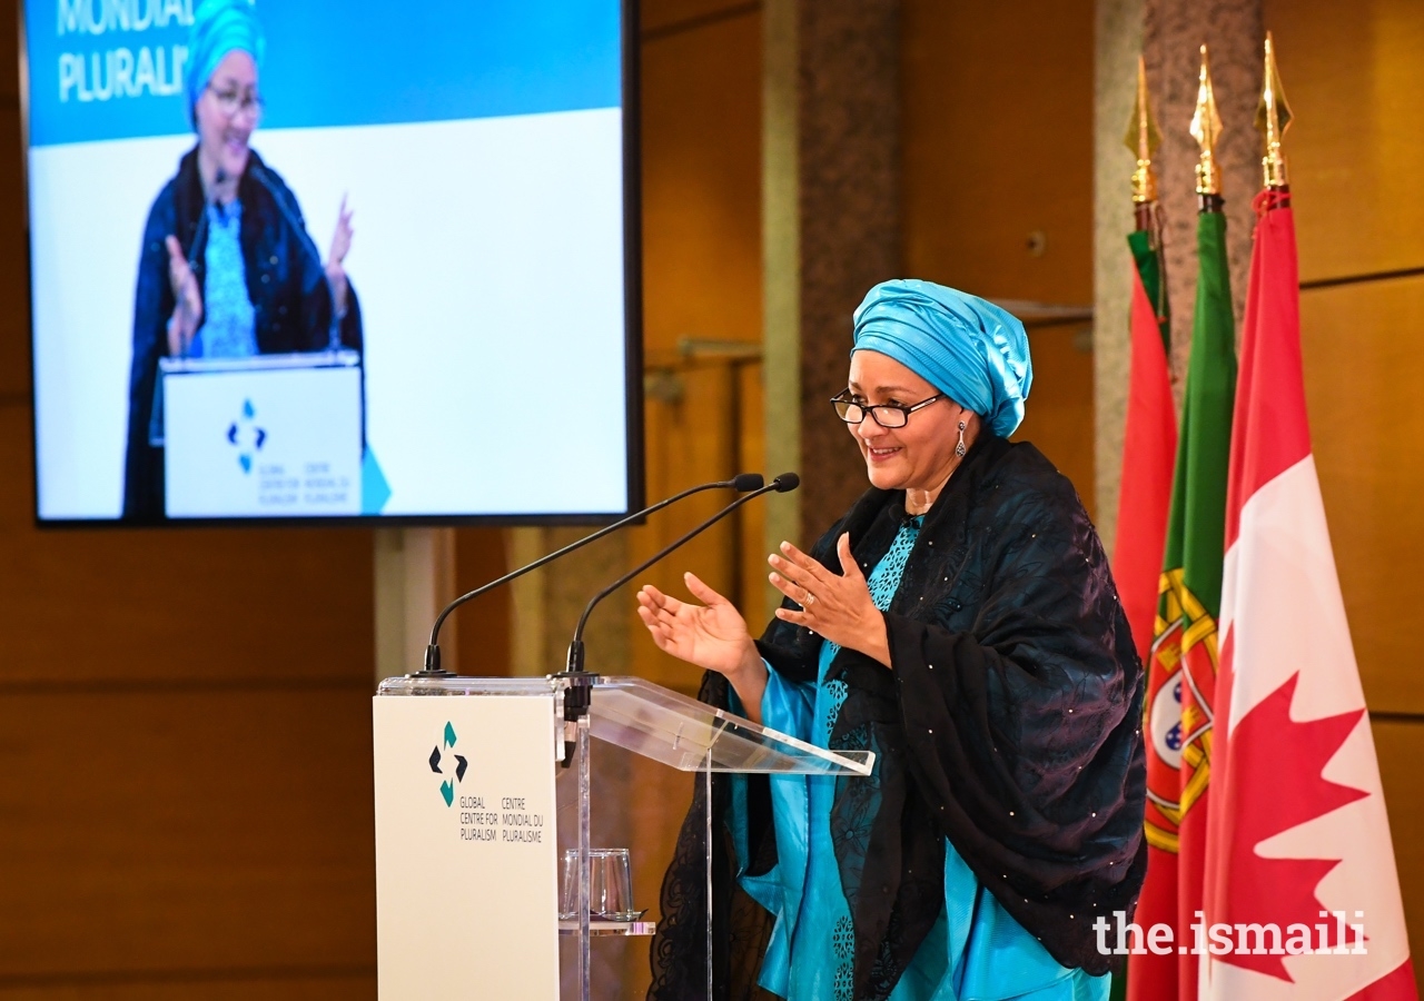
<svg viewBox="0 0 1424 1001"><path fill-rule="evenodd" d="M1310 453L1289 191L1269 188L1256 209L1226 501L1200 997L1415 1001Z"/></svg>

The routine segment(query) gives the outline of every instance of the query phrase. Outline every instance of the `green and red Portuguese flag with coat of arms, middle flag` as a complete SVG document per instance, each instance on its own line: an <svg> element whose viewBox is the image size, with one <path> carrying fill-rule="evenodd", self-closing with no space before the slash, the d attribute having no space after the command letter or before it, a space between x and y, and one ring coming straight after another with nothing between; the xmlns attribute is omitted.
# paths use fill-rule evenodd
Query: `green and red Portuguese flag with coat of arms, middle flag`
<svg viewBox="0 0 1424 1001"><path fill-rule="evenodd" d="M1173 926L1186 954L1132 955L1129 997L1196 1001L1192 954L1202 907L1208 787L1216 691L1216 621L1222 607L1222 554L1236 336L1226 216L1218 195L1198 216L1199 272L1186 400L1176 449L1172 511L1158 582L1159 605L1148 666L1143 739L1148 749L1149 861L1138 924ZM1175 971L1175 977L1172 975Z"/></svg>

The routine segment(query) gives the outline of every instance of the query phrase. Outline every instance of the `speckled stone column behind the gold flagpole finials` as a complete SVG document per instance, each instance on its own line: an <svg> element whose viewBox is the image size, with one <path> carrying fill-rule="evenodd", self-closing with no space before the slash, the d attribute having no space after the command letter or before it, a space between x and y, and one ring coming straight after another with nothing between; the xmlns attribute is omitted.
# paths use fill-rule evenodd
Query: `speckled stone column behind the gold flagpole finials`
<svg viewBox="0 0 1424 1001"><path fill-rule="evenodd" d="M1172 305L1172 370L1180 379L1192 346L1196 299L1198 147L1188 127L1196 107L1200 47L1212 58L1212 85L1222 115L1216 159L1223 172L1232 298L1240 323L1250 268L1252 199L1260 191L1262 0L1098 0L1094 121L1094 366L1096 410L1098 530L1109 550L1116 531L1126 414L1128 296L1132 229L1129 177L1134 157L1124 147L1136 87L1136 58L1148 64L1148 85L1162 130L1153 162L1166 218L1168 296Z"/></svg>

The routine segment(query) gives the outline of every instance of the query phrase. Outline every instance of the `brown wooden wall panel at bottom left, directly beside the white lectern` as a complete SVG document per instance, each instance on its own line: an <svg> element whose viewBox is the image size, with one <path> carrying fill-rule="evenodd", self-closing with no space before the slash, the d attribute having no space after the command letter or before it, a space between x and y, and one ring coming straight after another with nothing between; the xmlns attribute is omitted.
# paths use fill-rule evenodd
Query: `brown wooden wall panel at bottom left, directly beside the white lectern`
<svg viewBox="0 0 1424 1001"><path fill-rule="evenodd" d="M0 985L373 968L366 685L0 698Z"/></svg>

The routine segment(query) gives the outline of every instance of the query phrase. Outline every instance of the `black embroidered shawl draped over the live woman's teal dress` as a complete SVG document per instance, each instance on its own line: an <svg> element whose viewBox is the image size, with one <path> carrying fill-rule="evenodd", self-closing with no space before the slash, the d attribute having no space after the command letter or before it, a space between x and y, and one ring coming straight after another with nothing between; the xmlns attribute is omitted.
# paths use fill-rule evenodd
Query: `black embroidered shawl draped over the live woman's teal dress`
<svg viewBox="0 0 1424 1001"><path fill-rule="evenodd" d="M839 572L834 541L849 531L869 571L903 503L871 488L813 555ZM837 780L830 820L854 921L854 997L889 997L937 920L944 837L1055 960L1106 973L1092 923L1131 917L1146 867L1143 672L1068 480L1031 444L981 437L926 515L886 624L891 671L842 649L826 674L850 689L832 749L877 756L874 777ZM787 679L815 682L820 642L773 619L758 646ZM726 688L709 672L701 698L726 705ZM728 795L713 783L719 820ZM766 871L776 854L765 780L748 799L750 871ZM698 792L664 879L651 1001L706 997L702 817ZM729 832L715 830L718 997L770 997L756 977L772 917L736 886Z"/></svg>

